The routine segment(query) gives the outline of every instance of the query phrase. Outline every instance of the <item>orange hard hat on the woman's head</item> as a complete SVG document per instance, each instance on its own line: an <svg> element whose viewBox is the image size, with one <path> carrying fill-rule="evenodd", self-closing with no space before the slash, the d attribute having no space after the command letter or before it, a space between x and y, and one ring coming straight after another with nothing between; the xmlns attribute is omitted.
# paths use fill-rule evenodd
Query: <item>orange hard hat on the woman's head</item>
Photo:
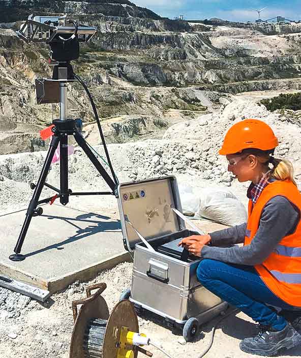
<svg viewBox="0 0 301 358"><path fill-rule="evenodd" d="M239 153L246 148L268 151L277 145L278 139L272 128L262 121L249 119L235 123L228 130L219 154Z"/></svg>

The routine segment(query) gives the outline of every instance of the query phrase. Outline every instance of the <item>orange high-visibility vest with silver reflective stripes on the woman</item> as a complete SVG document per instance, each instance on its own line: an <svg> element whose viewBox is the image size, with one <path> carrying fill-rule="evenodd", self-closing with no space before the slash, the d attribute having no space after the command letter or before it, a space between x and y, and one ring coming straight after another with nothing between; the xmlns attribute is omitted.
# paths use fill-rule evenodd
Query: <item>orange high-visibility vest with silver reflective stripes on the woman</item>
<svg viewBox="0 0 301 358"><path fill-rule="evenodd" d="M284 196L301 212L301 194L290 180L269 183L257 202L249 201L245 245L249 245L259 227L264 205L275 196ZM295 232L284 236L273 252L255 269L267 287L289 305L301 307L301 220Z"/></svg>

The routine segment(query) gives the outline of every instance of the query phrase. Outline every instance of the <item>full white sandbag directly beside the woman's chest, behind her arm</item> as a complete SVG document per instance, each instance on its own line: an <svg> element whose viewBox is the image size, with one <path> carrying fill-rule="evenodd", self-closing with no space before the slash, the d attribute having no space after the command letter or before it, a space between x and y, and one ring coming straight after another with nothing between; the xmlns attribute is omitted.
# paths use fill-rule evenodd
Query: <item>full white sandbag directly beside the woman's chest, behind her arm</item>
<svg viewBox="0 0 301 358"><path fill-rule="evenodd" d="M227 188L205 188L199 192L197 214L228 226L243 224L248 219L242 202Z"/></svg>

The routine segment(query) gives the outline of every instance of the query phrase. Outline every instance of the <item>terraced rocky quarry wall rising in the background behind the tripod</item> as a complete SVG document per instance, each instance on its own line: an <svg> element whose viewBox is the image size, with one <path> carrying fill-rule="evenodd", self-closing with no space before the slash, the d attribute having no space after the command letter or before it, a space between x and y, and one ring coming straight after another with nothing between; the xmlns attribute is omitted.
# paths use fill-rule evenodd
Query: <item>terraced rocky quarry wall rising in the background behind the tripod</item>
<svg viewBox="0 0 301 358"><path fill-rule="evenodd" d="M226 94L300 88L299 24L272 33L261 24L176 21L127 0L2 1L0 7L0 154L44 150L39 130L59 117L57 105L35 103L35 79L51 77L47 46L26 44L15 33L34 10L76 14L96 26L73 65L109 142L160 137L173 123L216 110ZM200 93L217 99L208 103ZM87 126L95 121L79 85L69 86L68 97L71 117Z"/></svg>

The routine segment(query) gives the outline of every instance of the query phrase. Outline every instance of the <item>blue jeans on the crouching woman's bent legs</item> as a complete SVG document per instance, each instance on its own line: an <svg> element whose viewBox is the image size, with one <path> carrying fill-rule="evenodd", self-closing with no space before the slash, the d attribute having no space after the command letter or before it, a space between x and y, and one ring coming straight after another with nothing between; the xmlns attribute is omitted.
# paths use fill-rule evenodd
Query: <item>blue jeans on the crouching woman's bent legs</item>
<svg viewBox="0 0 301 358"><path fill-rule="evenodd" d="M294 309L267 288L253 266L204 259L197 268L197 278L223 301L239 308L254 321L277 331L283 330L287 322L267 305Z"/></svg>

